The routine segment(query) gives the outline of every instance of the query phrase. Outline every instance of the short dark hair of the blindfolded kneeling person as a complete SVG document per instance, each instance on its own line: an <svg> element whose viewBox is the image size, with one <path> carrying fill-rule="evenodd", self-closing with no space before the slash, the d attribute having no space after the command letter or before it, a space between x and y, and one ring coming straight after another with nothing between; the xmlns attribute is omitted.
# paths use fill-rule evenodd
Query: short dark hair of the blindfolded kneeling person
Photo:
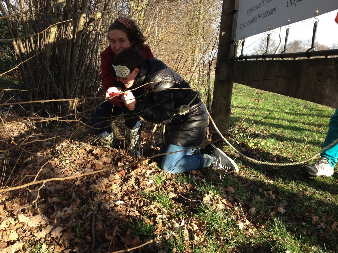
<svg viewBox="0 0 338 253"><path fill-rule="evenodd" d="M143 54L135 48L126 48L118 55L114 56L113 64L122 65L129 68L130 72L135 68L140 69L142 64L145 62Z"/></svg>

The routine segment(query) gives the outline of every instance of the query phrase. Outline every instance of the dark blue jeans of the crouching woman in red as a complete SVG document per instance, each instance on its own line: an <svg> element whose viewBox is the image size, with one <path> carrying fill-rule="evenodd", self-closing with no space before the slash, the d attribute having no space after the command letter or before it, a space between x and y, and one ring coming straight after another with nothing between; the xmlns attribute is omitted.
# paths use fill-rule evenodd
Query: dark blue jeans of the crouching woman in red
<svg viewBox="0 0 338 253"><path fill-rule="evenodd" d="M113 131L110 124L122 113L127 128L135 128L141 124L140 117L132 114L128 108L121 108L111 104L109 101L105 101L96 109L91 120L90 125L94 135L98 137L109 136Z"/></svg>

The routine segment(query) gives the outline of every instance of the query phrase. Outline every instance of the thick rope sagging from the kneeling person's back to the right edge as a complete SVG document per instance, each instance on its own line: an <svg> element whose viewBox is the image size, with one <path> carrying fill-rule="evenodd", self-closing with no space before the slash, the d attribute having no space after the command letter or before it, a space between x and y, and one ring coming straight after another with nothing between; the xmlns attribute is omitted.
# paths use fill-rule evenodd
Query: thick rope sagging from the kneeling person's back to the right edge
<svg viewBox="0 0 338 253"><path fill-rule="evenodd" d="M202 101L203 103L203 101ZM204 103L203 103L204 104ZM205 106L205 105L204 105ZM242 154L240 151L238 151L233 145L231 145L230 142L228 142L228 140L221 134L221 132L218 130L214 120L212 119L209 111L207 110L207 113L208 113L208 116L209 116L209 119L211 120L212 124L214 125L217 133L222 137L222 139L225 141L225 143L230 146L236 153L238 153L241 157L245 158L246 160L252 162L252 163L257 163L257 164L264 164L264 165L272 165L272 166L291 166L291 165L297 165L297 164L303 164L303 163L306 163L312 159L314 159L316 156L318 156L321 152L323 152L324 150L332 147L333 145L335 145L337 142L338 142L338 139L335 140L334 142L332 142L330 145L322 148L319 152L317 152L314 156L304 160L304 161L300 161L300 162L290 162L290 163L269 163L269 162L262 162L262 161L259 161L259 160L256 160L256 159L252 159L250 157L247 157L245 156L245 154Z"/></svg>

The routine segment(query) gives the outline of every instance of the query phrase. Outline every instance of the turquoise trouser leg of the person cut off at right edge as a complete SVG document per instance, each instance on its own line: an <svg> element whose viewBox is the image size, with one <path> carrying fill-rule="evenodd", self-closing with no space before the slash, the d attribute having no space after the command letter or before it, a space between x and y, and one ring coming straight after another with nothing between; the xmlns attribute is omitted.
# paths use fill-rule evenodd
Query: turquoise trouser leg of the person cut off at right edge
<svg viewBox="0 0 338 253"><path fill-rule="evenodd" d="M338 139L338 109L336 109L336 112L330 119L329 130L324 141L324 147L330 145L336 139ZM331 162L332 168L334 168L338 158L338 142L329 149L321 152L320 156L326 157Z"/></svg>

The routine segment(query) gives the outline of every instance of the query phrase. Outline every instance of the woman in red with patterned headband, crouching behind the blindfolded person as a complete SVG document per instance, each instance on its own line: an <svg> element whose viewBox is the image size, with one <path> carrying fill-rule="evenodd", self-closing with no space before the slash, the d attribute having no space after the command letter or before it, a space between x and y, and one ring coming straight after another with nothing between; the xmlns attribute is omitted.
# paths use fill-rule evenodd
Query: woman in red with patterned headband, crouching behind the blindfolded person
<svg viewBox="0 0 338 253"><path fill-rule="evenodd" d="M91 126L94 135L98 137L105 148L118 147L116 135L110 126L112 121L120 114L124 114L126 132L129 139L129 153L131 156L139 156L137 145L141 138L140 117L133 114L122 103L121 93L125 87L121 81L117 81L113 68L114 57L126 48L138 49L145 58L153 58L150 48L144 44L146 38L133 20L117 18L108 29L109 46L101 53L102 85L105 91L104 101L95 111Z"/></svg>

